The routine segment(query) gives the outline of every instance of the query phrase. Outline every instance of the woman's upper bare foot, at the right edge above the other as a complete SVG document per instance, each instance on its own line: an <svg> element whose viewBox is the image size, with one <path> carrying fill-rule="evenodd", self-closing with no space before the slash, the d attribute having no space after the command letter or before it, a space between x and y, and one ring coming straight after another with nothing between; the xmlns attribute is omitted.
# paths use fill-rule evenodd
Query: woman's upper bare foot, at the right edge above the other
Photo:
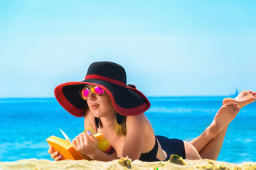
<svg viewBox="0 0 256 170"><path fill-rule="evenodd" d="M242 91L236 98L224 98L223 105L232 101L234 103L238 103L238 106L242 108L249 103L252 103L256 100L256 92L255 91Z"/></svg>

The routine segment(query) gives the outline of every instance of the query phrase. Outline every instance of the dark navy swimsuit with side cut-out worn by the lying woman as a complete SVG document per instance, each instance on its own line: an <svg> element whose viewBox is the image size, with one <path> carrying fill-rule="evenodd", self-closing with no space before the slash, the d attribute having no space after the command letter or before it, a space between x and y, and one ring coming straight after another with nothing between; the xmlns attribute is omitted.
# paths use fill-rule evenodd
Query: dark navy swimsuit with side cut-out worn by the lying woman
<svg viewBox="0 0 256 170"><path fill-rule="evenodd" d="M171 154L178 154L178 156L182 157L183 159L186 159L184 142L182 140L169 139L164 136L156 136L156 139L159 141L161 148L167 154L166 160L170 158ZM151 151L149 151L148 153L141 154L141 157L139 157L139 160L144 162L160 161L159 159L156 158L156 154L158 150L157 140L155 142L153 149L151 149Z"/></svg>

